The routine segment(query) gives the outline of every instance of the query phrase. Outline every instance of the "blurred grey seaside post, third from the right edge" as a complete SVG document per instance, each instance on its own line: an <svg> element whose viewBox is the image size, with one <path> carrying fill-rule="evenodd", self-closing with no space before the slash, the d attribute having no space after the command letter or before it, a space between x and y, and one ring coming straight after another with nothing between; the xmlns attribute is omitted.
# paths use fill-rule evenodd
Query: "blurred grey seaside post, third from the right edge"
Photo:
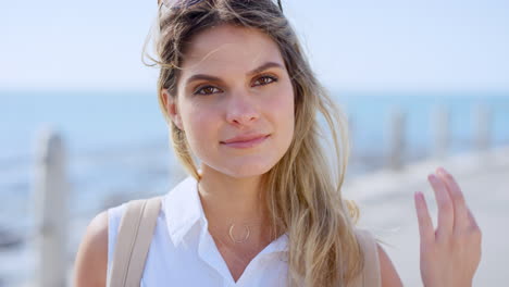
<svg viewBox="0 0 509 287"><path fill-rule="evenodd" d="M404 167L406 142L405 142L405 113L394 108L389 115L388 126L388 167L401 170Z"/></svg>

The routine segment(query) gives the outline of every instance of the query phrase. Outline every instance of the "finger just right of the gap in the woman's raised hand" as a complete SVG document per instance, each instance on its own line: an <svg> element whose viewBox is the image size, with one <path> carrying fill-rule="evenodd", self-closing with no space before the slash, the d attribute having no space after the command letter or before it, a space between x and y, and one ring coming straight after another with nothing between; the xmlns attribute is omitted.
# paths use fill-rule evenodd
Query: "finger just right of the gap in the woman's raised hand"
<svg viewBox="0 0 509 287"><path fill-rule="evenodd" d="M455 211L447 187L444 182L434 174L429 175L427 179L433 187L436 204L438 207L438 237L450 236L455 223Z"/></svg>

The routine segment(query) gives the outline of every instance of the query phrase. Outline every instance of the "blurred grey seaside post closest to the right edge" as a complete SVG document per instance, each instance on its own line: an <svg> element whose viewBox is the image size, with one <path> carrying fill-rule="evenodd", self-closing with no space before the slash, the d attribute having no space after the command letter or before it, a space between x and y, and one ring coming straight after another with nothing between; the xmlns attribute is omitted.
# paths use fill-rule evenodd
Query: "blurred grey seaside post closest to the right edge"
<svg viewBox="0 0 509 287"><path fill-rule="evenodd" d="M473 126L474 147L477 151L486 151L491 146L491 123L492 111L487 105L479 104L475 107Z"/></svg>

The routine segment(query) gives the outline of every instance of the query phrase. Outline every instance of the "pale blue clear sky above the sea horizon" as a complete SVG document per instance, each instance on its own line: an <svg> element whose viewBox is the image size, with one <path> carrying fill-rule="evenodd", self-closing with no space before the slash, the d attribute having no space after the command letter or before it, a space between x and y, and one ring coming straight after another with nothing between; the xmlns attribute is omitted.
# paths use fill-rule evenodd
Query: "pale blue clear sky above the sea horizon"
<svg viewBox="0 0 509 287"><path fill-rule="evenodd" d="M2 1L0 90L156 89L156 0ZM509 92L507 0L283 0L322 83Z"/></svg>

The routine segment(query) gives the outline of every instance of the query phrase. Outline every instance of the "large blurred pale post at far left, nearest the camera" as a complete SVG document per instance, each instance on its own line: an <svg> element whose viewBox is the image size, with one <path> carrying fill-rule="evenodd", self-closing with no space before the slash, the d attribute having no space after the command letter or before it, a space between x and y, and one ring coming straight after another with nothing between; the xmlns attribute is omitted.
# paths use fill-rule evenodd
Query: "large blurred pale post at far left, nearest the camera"
<svg viewBox="0 0 509 287"><path fill-rule="evenodd" d="M38 137L36 157L36 284L40 287L64 287L67 275L65 255L69 182L62 138L51 130L44 130Z"/></svg>

